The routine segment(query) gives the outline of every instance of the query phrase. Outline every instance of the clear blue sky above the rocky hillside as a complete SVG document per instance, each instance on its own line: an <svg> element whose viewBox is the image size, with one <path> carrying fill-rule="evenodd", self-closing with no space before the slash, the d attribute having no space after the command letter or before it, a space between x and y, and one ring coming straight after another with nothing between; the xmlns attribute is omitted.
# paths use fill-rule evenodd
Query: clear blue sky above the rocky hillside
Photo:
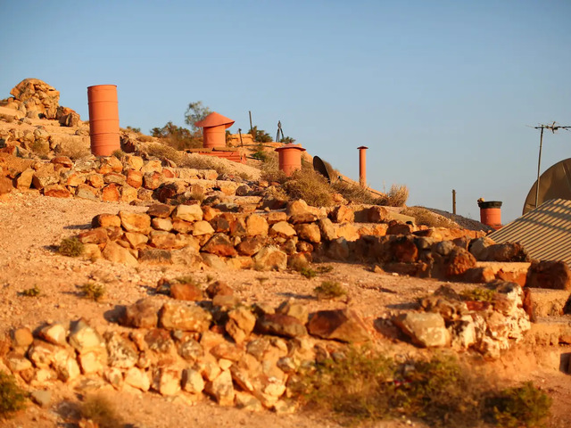
<svg viewBox="0 0 571 428"><path fill-rule="evenodd" d="M410 205L521 214L541 123L571 125L571 2L0 0L0 98L23 78L88 119L87 86L118 86L121 127L184 125L203 101L236 124L292 136ZM546 135L542 171L571 157Z"/></svg>

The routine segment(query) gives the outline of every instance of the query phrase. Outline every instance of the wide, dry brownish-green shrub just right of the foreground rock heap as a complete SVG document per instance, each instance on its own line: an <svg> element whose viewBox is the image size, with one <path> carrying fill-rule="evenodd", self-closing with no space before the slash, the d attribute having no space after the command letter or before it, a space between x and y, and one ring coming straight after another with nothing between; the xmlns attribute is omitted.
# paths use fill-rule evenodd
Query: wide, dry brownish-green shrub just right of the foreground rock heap
<svg viewBox="0 0 571 428"><path fill-rule="evenodd" d="M406 416L456 428L482 421L487 385L455 358L397 364L371 350L344 354L294 377L292 391L302 404L333 411L343 423Z"/></svg>

